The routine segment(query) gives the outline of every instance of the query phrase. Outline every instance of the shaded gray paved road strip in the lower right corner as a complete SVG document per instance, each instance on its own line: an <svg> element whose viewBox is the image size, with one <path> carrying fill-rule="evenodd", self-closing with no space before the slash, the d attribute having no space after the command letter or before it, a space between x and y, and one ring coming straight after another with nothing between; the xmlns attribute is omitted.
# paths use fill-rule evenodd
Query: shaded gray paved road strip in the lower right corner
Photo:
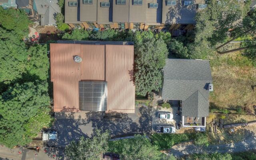
<svg viewBox="0 0 256 160"><path fill-rule="evenodd" d="M255 126L251 126L255 127ZM249 127L245 127L243 129L245 131L245 139L230 144L218 144L218 145L210 145L206 147L195 146L191 142L185 142L181 144L174 145L170 150L166 150L165 152L168 154L173 154L176 157L182 157L188 154L194 153L226 153L226 152L244 152L248 150L256 150L256 136L255 132L250 130ZM234 133L235 134L235 133Z"/></svg>

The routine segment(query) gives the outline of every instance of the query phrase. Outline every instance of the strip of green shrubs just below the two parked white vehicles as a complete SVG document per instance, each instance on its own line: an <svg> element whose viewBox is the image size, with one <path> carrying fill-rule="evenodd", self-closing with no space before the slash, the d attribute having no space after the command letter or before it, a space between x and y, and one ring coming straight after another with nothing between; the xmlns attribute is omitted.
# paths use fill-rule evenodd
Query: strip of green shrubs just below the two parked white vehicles
<svg viewBox="0 0 256 160"><path fill-rule="evenodd" d="M160 150L172 148L174 144L193 140L195 138L194 133L182 133L182 134L157 134L154 133L150 136L152 144L158 146Z"/></svg>

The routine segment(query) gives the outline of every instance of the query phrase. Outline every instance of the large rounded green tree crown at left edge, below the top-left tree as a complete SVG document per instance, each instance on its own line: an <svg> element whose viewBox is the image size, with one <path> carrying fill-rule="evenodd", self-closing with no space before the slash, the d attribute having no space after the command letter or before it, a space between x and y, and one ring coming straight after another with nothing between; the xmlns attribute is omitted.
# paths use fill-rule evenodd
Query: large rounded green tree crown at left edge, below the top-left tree
<svg viewBox="0 0 256 160"><path fill-rule="evenodd" d="M6 84L21 78L25 72L28 52L25 43L16 37L14 31L0 28L0 82Z"/></svg>

